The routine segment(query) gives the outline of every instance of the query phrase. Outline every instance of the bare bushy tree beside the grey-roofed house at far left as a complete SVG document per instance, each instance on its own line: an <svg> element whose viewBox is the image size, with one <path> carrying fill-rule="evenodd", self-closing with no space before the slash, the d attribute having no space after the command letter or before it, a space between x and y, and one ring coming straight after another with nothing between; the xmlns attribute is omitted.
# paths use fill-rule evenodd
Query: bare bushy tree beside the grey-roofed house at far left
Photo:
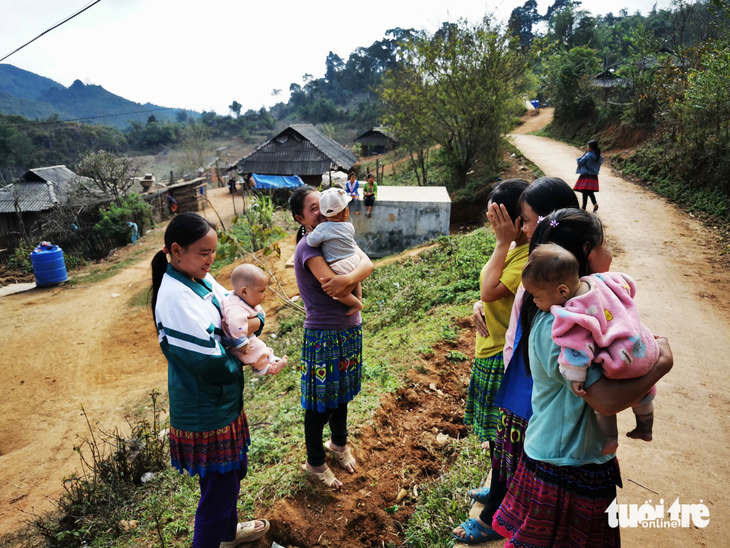
<svg viewBox="0 0 730 548"><path fill-rule="evenodd" d="M90 151L81 156L76 164L76 173L93 181L97 190L114 197L117 205L121 205L122 197L131 188L132 177L141 168L139 158L117 156L106 150ZM78 185L89 193L94 193L84 181Z"/></svg>

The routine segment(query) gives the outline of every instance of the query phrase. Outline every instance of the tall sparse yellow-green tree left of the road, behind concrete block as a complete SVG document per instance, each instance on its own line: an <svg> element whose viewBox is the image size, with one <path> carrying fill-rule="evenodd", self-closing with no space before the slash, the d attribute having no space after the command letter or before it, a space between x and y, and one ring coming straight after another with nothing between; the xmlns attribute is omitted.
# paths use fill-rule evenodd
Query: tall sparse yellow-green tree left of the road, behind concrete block
<svg viewBox="0 0 730 548"><path fill-rule="evenodd" d="M521 104L529 58L492 27L444 23L404 52L402 74L386 78L381 99L409 139L441 145L458 186L476 161L495 169L502 135Z"/></svg>

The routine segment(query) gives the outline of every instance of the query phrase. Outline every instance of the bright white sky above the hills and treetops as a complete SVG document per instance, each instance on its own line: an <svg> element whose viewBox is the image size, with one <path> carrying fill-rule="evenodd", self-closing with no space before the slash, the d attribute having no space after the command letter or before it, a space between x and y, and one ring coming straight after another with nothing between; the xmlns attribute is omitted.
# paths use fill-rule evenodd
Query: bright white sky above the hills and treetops
<svg viewBox="0 0 730 548"><path fill-rule="evenodd" d="M85 0L0 0L0 57L84 7ZM90 3L90 2L89 2ZM390 28L433 31L443 21L506 21L524 0L102 0L5 63L68 86L74 80L140 103L228 112L271 106L305 73L321 77L333 51L343 59ZM539 0L545 13L552 0ZM605 14L646 14L653 0L585 0ZM659 2L659 7L668 0Z"/></svg>

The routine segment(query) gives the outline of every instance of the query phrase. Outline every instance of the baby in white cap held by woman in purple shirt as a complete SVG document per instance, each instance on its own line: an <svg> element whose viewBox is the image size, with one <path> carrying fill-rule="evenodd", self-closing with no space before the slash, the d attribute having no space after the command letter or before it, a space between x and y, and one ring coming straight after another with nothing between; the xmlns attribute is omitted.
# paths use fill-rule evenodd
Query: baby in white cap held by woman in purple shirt
<svg viewBox="0 0 730 548"><path fill-rule="evenodd" d="M319 223L307 235L307 244L322 247L324 260L335 274L348 274L360 263L360 256L355 251L355 228L347 222L350 199L341 188L325 190L319 198L319 209L327 222ZM349 307L347 316L352 316L362 309L362 286L357 284L352 293L338 300Z"/></svg>

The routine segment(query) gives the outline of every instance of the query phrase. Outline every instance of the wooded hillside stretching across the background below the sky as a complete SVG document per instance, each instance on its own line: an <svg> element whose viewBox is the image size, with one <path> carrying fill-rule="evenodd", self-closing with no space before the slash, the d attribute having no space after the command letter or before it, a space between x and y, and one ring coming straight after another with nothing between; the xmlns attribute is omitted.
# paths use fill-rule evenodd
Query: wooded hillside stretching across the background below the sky
<svg viewBox="0 0 730 548"><path fill-rule="evenodd" d="M506 24L486 18L447 22L434 33L396 28L347 59L330 52L323 75L273 90L288 99L270 109L245 110L233 98L227 115L153 114L125 131L0 116L0 173L10 181L31 166L73 165L88 149L155 153L196 127L254 141L289 123L314 123L349 144L358 132L387 125L420 184L444 184L429 177L438 164L450 186L468 188L471 178L496 173L503 134L524 101L537 98L555 107L552 135L598 136L609 147L616 136L651 136L625 169L658 173L669 186L699 173L698 185L728 194L728 6L677 0L646 15L594 15L580 2L556 0L540 14L527 0ZM434 145L438 154L429 152ZM681 168L667 170L667 155Z"/></svg>

